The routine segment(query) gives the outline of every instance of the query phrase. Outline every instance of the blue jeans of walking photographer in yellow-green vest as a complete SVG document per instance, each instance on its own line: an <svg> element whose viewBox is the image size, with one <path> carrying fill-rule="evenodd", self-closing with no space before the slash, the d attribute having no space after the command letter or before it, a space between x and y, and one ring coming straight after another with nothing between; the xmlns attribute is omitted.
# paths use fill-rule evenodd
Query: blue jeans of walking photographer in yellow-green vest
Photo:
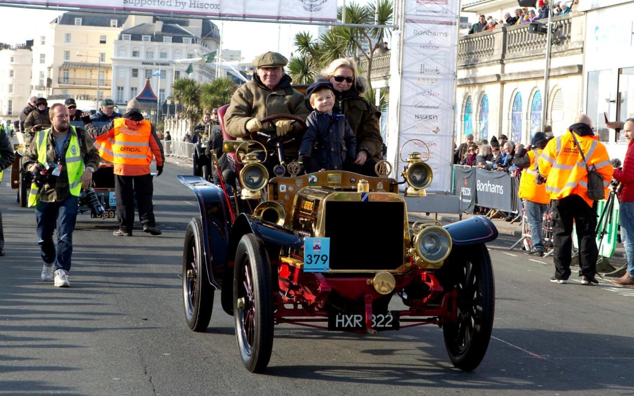
<svg viewBox="0 0 634 396"><path fill-rule="evenodd" d="M73 230L79 197L68 195L61 202L39 202L36 206L37 239L42 249L44 263L55 263L56 269L70 271L73 253ZM57 225L57 248L53 243L53 231Z"/></svg>

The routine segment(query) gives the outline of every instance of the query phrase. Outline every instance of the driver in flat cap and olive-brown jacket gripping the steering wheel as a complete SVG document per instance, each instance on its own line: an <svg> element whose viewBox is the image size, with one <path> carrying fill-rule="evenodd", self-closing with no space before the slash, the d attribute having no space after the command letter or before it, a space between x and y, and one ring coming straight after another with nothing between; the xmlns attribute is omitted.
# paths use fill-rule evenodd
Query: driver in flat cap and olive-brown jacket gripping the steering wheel
<svg viewBox="0 0 634 396"><path fill-rule="evenodd" d="M290 86L291 78L284 72L288 59L278 53L268 52L252 62L257 67L253 80L242 85L231 97L231 104L224 114L224 128L231 136L249 139L252 132L267 127L262 118L275 114L294 114L306 120L310 113L304 95ZM289 135L295 140L284 145L287 157L297 157L302 141L301 131L291 120L275 121L278 136Z"/></svg>

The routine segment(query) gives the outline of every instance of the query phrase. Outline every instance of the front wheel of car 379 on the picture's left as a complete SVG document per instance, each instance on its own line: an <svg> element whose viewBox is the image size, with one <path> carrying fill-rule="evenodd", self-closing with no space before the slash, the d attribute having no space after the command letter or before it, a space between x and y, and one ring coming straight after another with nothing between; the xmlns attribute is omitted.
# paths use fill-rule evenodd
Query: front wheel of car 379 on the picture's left
<svg viewBox="0 0 634 396"><path fill-rule="evenodd" d="M233 312L242 362L261 373L273 350L273 288L264 244L254 234L244 235L236 251Z"/></svg>

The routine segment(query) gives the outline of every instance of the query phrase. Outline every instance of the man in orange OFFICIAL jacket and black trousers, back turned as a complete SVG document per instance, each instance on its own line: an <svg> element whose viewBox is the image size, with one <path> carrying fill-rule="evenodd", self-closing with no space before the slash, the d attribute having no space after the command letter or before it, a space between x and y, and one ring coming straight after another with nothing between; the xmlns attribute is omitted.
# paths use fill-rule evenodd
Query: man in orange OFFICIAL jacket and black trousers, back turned
<svg viewBox="0 0 634 396"><path fill-rule="evenodd" d="M165 156L154 125L143 119L139 102L136 99L127 102L123 118L110 120L103 127L94 127L86 117L82 117L82 121L89 135L97 139L100 154L114 164L119 230L113 235L132 236L134 196L143 231L160 235L152 209L150 163L153 156L157 163L157 176L160 176Z"/></svg>

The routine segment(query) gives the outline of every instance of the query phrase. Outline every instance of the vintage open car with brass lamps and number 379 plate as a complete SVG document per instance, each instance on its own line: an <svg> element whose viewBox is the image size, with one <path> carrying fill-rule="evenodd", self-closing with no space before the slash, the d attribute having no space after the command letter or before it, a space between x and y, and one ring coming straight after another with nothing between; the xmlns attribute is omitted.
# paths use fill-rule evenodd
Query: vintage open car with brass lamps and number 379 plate
<svg viewBox="0 0 634 396"><path fill-rule="evenodd" d="M476 217L410 225L399 185L420 197L432 180L417 152L409 154L404 182L388 176L388 163L377 164L377 177L293 171L269 180L257 146L224 142L224 151L242 162L235 188L222 178L216 185L178 176L200 209L183 247L190 329L207 329L219 292L223 310L235 318L242 362L255 373L268 366L274 326L284 323L370 334L433 324L443 329L453 364L475 369L493 326L495 285L485 245L498 235L493 223ZM391 304L395 297L402 304Z"/></svg>

